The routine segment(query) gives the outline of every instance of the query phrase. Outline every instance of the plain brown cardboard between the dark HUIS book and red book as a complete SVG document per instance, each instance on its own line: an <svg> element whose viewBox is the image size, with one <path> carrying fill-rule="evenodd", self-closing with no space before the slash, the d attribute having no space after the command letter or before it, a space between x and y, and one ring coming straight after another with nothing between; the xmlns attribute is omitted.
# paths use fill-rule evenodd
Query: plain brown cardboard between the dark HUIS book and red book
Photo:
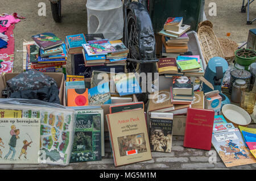
<svg viewBox="0 0 256 181"><path fill-rule="evenodd" d="M174 115L172 121L172 135L184 136L186 127L187 115Z"/></svg>

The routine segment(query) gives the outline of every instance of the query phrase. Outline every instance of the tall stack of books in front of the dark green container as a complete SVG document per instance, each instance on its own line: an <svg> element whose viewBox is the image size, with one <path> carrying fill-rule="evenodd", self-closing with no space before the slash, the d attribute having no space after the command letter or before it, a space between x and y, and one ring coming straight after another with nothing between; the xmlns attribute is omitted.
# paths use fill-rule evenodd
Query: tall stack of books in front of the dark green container
<svg viewBox="0 0 256 181"><path fill-rule="evenodd" d="M188 51L188 35L189 25L182 24L183 17L167 18L162 31L159 35L162 36L163 50L162 55L175 56Z"/></svg>

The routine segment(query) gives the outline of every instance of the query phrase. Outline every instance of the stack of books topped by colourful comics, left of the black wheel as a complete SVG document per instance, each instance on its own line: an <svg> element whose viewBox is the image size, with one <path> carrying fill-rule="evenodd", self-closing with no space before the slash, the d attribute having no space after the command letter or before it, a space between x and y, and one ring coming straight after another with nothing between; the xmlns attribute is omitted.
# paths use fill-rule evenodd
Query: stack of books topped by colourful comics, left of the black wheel
<svg viewBox="0 0 256 181"><path fill-rule="evenodd" d="M86 34L82 44L85 66L126 65L129 49L121 40L109 41L102 33Z"/></svg>

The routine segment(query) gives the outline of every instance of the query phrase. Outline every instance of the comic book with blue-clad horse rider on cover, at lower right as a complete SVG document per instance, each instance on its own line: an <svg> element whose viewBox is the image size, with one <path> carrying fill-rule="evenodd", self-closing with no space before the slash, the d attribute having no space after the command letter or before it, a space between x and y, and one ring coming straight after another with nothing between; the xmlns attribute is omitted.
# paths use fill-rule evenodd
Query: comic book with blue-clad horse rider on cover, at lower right
<svg viewBox="0 0 256 181"><path fill-rule="evenodd" d="M212 144L226 167L256 163L238 128L213 132Z"/></svg>

